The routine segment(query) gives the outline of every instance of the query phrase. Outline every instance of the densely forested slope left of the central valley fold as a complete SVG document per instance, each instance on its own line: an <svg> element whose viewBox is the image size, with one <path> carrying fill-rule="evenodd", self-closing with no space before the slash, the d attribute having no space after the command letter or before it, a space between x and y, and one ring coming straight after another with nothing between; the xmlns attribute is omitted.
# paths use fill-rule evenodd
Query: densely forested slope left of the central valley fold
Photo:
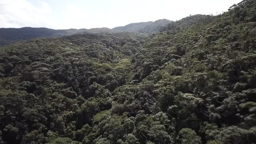
<svg viewBox="0 0 256 144"><path fill-rule="evenodd" d="M82 141L84 125L132 80L129 58L143 38L86 34L1 48L1 143Z"/></svg>

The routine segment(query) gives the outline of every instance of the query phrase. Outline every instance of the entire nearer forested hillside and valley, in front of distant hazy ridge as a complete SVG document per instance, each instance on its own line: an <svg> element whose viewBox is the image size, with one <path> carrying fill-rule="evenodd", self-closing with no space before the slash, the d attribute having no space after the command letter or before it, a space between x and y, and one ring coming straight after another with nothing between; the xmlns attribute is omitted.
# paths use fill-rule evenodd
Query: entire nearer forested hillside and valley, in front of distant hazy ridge
<svg viewBox="0 0 256 144"><path fill-rule="evenodd" d="M255 144L256 1L1 47L0 102L0 144Z"/></svg>

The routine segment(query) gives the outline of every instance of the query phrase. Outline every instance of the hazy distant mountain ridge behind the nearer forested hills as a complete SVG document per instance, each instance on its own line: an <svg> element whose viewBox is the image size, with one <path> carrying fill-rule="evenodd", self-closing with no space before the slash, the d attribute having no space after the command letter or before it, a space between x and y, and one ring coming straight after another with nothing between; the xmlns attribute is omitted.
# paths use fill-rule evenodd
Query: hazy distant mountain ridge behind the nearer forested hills
<svg viewBox="0 0 256 144"><path fill-rule="evenodd" d="M0 28L0 45L12 44L13 42L26 40L30 38L40 37L57 37L70 36L73 34L84 33L116 33L116 32L139 32L139 33L154 33L160 32L168 23L172 21L162 19L155 22L140 22L132 23L126 26L119 26L113 29L110 28L91 28L91 29L67 29L54 30L50 28Z"/></svg>

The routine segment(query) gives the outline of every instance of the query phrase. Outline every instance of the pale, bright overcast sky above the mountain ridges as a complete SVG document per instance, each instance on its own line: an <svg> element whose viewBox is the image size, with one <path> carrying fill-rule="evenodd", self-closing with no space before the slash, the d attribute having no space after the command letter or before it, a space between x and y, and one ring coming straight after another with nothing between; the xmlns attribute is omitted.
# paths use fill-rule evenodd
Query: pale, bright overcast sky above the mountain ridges
<svg viewBox="0 0 256 144"><path fill-rule="evenodd" d="M0 28L114 28L226 12L242 0L0 0Z"/></svg>

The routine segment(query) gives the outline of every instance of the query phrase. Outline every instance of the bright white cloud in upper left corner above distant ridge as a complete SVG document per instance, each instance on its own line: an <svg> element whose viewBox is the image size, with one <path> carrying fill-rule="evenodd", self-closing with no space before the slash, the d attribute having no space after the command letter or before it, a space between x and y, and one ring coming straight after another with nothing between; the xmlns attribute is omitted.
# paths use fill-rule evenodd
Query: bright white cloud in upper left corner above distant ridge
<svg viewBox="0 0 256 144"><path fill-rule="evenodd" d="M50 18L52 12L46 2L34 6L26 0L0 0L0 27L52 27L55 22Z"/></svg>

